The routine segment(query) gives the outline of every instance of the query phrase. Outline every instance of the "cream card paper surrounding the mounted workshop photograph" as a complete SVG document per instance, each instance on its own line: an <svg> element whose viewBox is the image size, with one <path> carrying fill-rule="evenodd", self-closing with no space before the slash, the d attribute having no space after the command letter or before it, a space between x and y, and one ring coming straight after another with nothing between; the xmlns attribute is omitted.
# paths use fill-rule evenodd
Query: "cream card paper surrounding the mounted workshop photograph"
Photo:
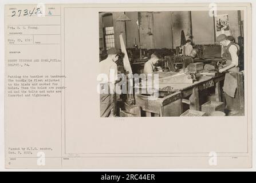
<svg viewBox="0 0 256 183"><path fill-rule="evenodd" d="M162 12L194 11L192 18L198 19L192 19L192 23L207 23L212 8L207 3L6 5L6 168L250 168L252 37L249 3L214 6L214 11L220 11L219 15L231 12L229 20L234 12L243 12L243 115L157 118L102 118L99 115L101 13L139 11L149 12L146 16L150 17L155 12L153 16L157 17ZM200 16L201 11L206 19ZM229 27L224 31L231 33L234 24L225 20ZM153 28L164 32L163 24L154 21L155 27L152 18L146 22L148 35L153 33ZM212 21L212 30L205 31L218 33L214 22L217 21ZM173 25L174 29L182 26L180 22ZM188 27L187 22L184 25ZM137 31L139 25L132 26ZM199 30L193 27L195 37ZM112 33L108 31L110 41L105 46L113 47ZM123 34L125 41L123 31L116 34ZM180 34L173 36L180 41ZM163 44L147 39L140 46L148 47L153 43L155 47L168 47L171 39L164 39ZM130 40L125 43L139 44L137 37ZM204 40L198 36L196 41ZM214 43L214 38L207 38L207 41ZM172 42L172 46L177 45L179 42ZM206 87L208 85L210 83Z"/></svg>

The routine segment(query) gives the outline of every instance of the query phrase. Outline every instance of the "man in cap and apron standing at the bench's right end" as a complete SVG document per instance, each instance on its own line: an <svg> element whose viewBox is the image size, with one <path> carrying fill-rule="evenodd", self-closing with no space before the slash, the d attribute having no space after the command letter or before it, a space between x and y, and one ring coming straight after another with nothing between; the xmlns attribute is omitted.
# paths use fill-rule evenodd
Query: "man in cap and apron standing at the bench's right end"
<svg viewBox="0 0 256 183"><path fill-rule="evenodd" d="M219 69L219 72L227 72L225 75L223 90L225 93L226 109L229 110L229 116L232 116L238 113L238 111L234 109L234 101L235 97L237 96L237 94L235 94L235 90L237 89L237 74L235 73L239 72L239 51L237 46L227 38L226 34L220 34L216 38L216 41L219 42L220 45L227 47L225 53L223 53L227 59L226 65Z"/></svg>

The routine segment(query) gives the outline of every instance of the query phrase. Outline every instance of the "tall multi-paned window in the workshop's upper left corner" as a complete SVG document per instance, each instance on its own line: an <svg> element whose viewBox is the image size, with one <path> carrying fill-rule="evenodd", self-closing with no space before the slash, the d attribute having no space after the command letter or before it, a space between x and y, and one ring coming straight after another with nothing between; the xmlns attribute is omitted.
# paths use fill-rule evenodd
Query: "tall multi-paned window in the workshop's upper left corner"
<svg viewBox="0 0 256 183"><path fill-rule="evenodd" d="M106 14L103 16L103 32L104 32L104 46L108 50L111 47L115 47L115 36L113 26L113 15Z"/></svg>

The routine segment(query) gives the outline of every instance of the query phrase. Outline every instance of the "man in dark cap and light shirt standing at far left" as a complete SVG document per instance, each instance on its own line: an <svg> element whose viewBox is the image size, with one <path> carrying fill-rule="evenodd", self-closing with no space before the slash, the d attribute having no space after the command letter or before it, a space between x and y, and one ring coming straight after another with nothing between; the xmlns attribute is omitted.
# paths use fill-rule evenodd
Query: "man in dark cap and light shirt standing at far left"
<svg viewBox="0 0 256 183"><path fill-rule="evenodd" d="M115 84L117 81L117 60L121 57L121 50L111 47L107 51L108 57L100 62L100 73L108 76L108 92L100 94L100 117L115 116ZM111 78L111 74L115 74L114 78ZM114 80L114 81L111 81ZM101 82L102 83L102 82ZM101 85L103 86L103 85ZM110 87L112 86L112 87Z"/></svg>

